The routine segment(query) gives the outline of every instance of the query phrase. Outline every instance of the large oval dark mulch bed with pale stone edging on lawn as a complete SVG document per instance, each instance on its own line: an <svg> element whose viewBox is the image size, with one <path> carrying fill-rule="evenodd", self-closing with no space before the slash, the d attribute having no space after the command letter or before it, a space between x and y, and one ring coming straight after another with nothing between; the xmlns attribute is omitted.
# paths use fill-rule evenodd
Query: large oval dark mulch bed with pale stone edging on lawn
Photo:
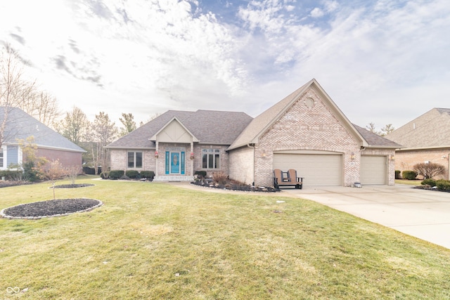
<svg viewBox="0 0 450 300"><path fill-rule="evenodd" d="M102 204L100 200L86 198L47 200L3 209L0 216L7 219L41 219L48 216L66 216L79 211L89 211Z"/></svg>

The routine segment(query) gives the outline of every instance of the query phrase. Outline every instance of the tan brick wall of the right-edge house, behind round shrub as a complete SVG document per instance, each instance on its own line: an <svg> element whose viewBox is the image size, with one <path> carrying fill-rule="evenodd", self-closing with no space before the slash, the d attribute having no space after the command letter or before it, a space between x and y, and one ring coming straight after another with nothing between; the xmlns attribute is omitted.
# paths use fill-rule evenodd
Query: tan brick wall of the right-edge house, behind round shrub
<svg viewBox="0 0 450 300"><path fill-rule="evenodd" d="M423 149L423 150L397 150L395 153L395 169L401 172L413 170L413 166L419 162L434 162L445 167L444 174L436 176L435 179L449 178L450 148ZM401 174L400 172L400 174Z"/></svg>

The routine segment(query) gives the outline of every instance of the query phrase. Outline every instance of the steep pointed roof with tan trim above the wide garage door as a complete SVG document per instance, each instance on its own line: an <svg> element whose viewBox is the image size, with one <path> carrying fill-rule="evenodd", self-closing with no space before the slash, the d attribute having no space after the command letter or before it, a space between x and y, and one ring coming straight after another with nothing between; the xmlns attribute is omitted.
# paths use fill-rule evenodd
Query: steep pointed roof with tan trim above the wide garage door
<svg viewBox="0 0 450 300"><path fill-rule="evenodd" d="M300 87L300 89L297 89L297 91L294 91L274 106L269 107L268 110L262 112L261 115L255 117L255 119L253 119L247 128L240 134L236 141L234 141L229 147L229 150L240 148L248 144L258 143L259 137L262 136L262 134L264 134L272 124L277 122L278 119L283 116L284 112L293 106L310 87L314 87L315 90L321 94L321 98L323 98L324 103L330 107L330 110L332 110L335 116L338 117L342 125L347 128L349 133L352 133L353 136L361 142L361 146L369 146L363 136L361 136L361 133L354 128L353 124L349 122L339 107L335 105L333 100L331 100L330 96L328 96L328 94L322 89L316 79L311 79L307 82L307 84Z"/></svg>

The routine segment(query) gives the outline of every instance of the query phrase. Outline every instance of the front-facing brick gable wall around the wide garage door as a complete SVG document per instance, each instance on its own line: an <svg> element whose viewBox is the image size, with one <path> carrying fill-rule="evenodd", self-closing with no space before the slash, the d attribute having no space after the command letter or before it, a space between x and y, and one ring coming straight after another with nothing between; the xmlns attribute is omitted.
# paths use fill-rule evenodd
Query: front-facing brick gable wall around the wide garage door
<svg viewBox="0 0 450 300"><path fill-rule="evenodd" d="M308 107L307 99L314 100ZM321 150L344 153L344 185L359 181L359 141L333 115L314 89L308 89L285 114L259 138L255 148L255 184L272 185L274 151Z"/></svg>

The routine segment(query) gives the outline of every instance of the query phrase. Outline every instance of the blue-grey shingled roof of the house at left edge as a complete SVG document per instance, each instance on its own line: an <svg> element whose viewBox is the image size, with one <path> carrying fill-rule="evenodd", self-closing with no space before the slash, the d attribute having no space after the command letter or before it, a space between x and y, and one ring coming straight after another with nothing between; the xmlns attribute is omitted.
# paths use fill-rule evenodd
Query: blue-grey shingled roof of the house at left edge
<svg viewBox="0 0 450 300"><path fill-rule="evenodd" d="M4 119L5 112L8 112L4 131L5 144L17 145L17 139L25 140L34 136L34 143L38 148L86 152L83 148L17 107L0 107L0 122Z"/></svg>

